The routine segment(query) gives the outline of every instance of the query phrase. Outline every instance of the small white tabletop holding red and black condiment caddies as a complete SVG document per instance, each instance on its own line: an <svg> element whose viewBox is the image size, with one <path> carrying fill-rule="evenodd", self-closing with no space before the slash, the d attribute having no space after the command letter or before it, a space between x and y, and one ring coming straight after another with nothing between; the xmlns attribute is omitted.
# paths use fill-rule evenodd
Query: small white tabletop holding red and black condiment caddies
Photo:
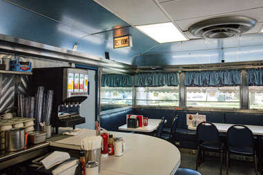
<svg viewBox="0 0 263 175"><path fill-rule="evenodd" d="M157 127L159 126L160 122L161 122L161 119L148 119L147 126L131 128L131 127L127 127L127 124L126 124L126 125L122 125L118 127L118 129L121 131L153 132L154 130L157 130Z"/></svg>

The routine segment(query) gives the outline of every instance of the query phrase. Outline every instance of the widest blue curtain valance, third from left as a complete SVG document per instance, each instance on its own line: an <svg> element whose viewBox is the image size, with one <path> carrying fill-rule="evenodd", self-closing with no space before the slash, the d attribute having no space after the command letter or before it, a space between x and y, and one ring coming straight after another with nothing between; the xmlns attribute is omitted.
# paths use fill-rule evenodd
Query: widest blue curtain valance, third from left
<svg viewBox="0 0 263 175"><path fill-rule="evenodd" d="M186 72L186 86L235 86L240 85L240 70Z"/></svg>

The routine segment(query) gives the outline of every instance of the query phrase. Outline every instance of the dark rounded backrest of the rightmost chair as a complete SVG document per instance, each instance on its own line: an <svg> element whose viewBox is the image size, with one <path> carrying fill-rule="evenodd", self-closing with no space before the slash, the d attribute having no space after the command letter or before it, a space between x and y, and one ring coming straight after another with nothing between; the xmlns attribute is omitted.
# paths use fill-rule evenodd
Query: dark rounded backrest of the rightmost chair
<svg viewBox="0 0 263 175"><path fill-rule="evenodd" d="M233 125L229 127L226 140L228 147L254 147L253 132L245 125Z"/></svg>

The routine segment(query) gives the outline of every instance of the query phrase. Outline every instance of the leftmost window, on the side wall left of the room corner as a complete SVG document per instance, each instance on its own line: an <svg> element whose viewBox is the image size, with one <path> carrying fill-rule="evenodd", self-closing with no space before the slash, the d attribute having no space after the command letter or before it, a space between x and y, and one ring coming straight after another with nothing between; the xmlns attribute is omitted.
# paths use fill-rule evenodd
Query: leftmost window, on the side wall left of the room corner
<svg viewBox="0 0 263 175"><path fill-rule="evenodd" d="M101 87L101 104L133 105L133 88Z"/></svg>

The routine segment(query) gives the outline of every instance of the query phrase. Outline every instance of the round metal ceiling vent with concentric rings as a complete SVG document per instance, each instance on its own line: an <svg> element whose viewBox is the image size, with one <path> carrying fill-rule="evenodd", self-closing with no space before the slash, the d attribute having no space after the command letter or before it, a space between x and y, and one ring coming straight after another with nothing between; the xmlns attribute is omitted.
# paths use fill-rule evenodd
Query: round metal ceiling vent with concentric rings
<svg viewBox="0 0 263 175"><path fill-rule="evenodd" d="M224 39L247 32L255 24L249 17L219 17L195 23L188 30L196 37Z"/></svg>

